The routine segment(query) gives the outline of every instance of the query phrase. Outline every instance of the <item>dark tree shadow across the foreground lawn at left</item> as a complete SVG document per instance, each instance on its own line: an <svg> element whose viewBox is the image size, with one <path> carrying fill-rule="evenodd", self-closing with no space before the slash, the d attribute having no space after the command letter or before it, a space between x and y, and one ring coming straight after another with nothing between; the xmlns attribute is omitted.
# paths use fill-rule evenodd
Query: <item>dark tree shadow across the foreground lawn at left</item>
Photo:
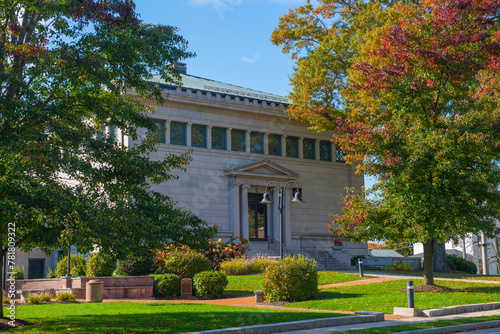
<svg viewBox="0 0 500 334"><path fill-rule="evenodd" d="M151 303L155 308L164 304ZM324 317L324 314L302 313L301 319ZM333 316L333 315L330 315ZM19 333L181 333L226 327L240 327L263 323L297 320L293 313L238 311L207 311L203 305L190 304L188 312L155 312L139 314L50 315L36 319L35 325L27 326Z"/></svg>

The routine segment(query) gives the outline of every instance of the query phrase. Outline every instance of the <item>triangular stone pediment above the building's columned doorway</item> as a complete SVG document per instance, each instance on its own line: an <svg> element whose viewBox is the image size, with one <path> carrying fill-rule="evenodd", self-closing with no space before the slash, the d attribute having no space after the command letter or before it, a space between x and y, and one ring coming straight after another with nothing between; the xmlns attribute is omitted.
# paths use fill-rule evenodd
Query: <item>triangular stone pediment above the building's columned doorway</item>
<svg viewBox="0 0 500 334"><path fill-rule="evenodd" d="M271 160L261 160L239 166L236 168L224 171L226 176L244 176L261 179L278 178L278 179L294 179L299 176L298 173L291 171Z"/></svg>

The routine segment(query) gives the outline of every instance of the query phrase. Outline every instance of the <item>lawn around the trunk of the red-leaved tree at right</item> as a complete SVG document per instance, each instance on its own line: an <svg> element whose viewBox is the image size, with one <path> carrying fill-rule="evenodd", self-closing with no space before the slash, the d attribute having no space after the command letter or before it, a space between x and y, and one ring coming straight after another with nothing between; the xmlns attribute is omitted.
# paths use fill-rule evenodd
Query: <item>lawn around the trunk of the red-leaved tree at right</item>
<svg viewBox="0 0 500 334"><path fill-rule="evenodd" d="M414 285L423 284L415 280ZM451 305L500 301L500 285L438 281L439 285L455 289L453 292L415 292L415 307L438 308ZM288 307L336 311L379 311L391 314L394 306L406 307L406 280L388 281L369 285L353 285L320 291L319 299L290 303Z"/></svg>

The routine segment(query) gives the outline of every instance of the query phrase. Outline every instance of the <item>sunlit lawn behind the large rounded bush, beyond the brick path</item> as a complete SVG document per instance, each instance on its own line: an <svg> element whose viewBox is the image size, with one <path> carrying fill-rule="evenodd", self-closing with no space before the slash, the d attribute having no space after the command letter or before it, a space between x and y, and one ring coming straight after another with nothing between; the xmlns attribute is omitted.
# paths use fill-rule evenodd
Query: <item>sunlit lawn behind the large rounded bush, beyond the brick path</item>
<svg viewBox="0 0 500 334"><path fill-rule="evenodd" d="M342 274L331 271L318 272L319 285L334 284L341 282L357 281L369 277L359 277L355 274ZM229 284L225 293L229 297L251 296L255 290L262 289L264 283L264 275L239 275L228 276Z"/></svg>

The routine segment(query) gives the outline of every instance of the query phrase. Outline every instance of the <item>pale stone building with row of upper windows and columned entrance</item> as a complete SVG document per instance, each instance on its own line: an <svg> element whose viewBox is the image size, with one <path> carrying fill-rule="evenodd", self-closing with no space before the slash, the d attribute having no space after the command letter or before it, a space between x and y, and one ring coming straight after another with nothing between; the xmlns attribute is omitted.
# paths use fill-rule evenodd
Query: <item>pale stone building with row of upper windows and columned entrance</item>
<svg viewBox="0 0 500 334"><path fill-rule="evenodd" d="M279 240L278 189L269 187L274 204L260 204L266 185L276 181L283 186L293 180L306 203L290 203L297 190L290 184L285 192L286 248L300 252L317 247L344 264L351 256L367 255L365 243L349 239L342 239L344 250L330 249L330 215L340 213L345 187L359 189L364 183L355 168L343 162L331 133L317 133L308 124L290 120L285 113L288 104L280 96L188 75L185 64L178 68L182 87L155 80L163 86L163 105L143 100L158 108L150 116L165 132L152 158L192 151L193 161L186 172L177 172L178 180L155 190L218 225L218 237L249 239L256 253L266 252L268 242ZM130 138L123 140L133 145ZM41 265L47 268L50 259L47 256Z"/></svg>

